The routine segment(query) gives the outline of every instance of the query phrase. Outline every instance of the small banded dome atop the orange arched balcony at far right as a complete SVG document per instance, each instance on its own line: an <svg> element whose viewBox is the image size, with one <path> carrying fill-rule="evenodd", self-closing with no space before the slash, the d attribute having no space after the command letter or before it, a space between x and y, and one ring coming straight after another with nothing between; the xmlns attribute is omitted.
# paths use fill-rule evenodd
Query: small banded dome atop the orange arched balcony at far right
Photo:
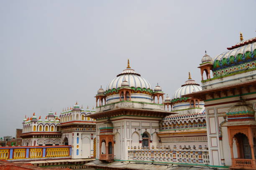
<svg viewBox="0 0 256 170"><path fill-rule="evenodd" d="M242 99L240 100L241 102L238 102L236 105L231 107L226 113L228 116L228 122L255 120L254 109L246 105Z"/></svg>

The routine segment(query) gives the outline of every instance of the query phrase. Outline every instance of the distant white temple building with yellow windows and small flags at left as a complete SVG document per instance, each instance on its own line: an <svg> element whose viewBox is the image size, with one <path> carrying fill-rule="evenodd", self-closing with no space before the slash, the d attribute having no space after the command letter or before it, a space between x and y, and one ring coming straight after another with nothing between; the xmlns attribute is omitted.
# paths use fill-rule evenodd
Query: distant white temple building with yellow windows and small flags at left
<svg viewBox="0 0 256 170"><path fill-rule="evenodd" d="M23 146L71 145L72 158L95 158L95 120L90 115L95 109L84 109L76 103L63 110L58 117L50 111L45 120L32 117L23 120Z"/></svg>

